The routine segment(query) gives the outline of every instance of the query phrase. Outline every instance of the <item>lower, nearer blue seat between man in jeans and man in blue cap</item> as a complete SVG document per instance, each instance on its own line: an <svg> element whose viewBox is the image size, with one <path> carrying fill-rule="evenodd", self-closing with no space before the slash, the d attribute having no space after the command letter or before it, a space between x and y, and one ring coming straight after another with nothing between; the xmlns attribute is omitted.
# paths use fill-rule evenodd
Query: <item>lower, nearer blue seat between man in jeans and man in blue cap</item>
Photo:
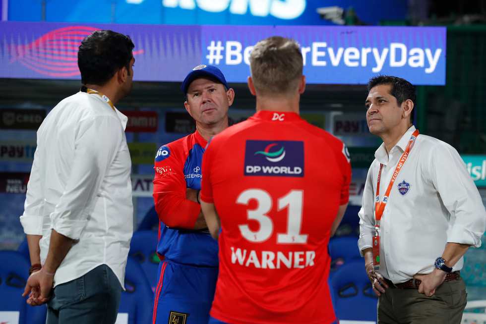
<svg viewBox="0 0 486 324"><path fill-rule="evenodd" d="M142 267L132 257L128 257L125 272L125 291L120 300L120 314L128 314L128 324L152 323L154 294Z"/></svg>

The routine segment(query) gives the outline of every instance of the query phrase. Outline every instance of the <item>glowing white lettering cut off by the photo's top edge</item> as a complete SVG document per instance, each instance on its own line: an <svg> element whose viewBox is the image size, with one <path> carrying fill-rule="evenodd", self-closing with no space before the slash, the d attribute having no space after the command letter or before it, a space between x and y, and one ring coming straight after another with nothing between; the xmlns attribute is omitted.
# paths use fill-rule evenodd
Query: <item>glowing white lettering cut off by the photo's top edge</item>
<svg viewBox="0 0 486 324"><path fill-rule="evenodd" d="M144 0L126 0L126 3L139 4ZM251 15L266 17L272 15L280 19L295 19L305 10L305 0L162 0L162 5L168 8L208 12L222 12L229 8L233 14L244 15L249 11Z"/></svg>

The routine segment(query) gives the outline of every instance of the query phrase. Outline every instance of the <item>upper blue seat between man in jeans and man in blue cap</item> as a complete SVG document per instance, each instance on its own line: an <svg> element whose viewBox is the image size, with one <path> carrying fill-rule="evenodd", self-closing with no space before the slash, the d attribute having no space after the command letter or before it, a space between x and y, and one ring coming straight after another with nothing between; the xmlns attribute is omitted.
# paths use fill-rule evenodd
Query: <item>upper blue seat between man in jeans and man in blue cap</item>
<svg viewBox="0 0 486 324"><path fill-rule="evenodd" d="M130 242L128 255L138 261L142 266L148 282L155 291L157 285L157 270L159 268L159 257L157 250L157 232L153 230L136 231Z"/></svg>

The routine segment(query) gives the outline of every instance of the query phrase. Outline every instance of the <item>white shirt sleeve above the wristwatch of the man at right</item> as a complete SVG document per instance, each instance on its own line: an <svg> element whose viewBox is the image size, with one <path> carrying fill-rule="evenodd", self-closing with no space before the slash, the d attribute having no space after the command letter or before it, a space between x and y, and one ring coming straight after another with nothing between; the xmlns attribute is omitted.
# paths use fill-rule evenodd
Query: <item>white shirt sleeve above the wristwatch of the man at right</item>
<svg viewBox="0 0 486 324"><path fill-rule="evenodd" d="M450 214L447 242L480 247L486 229L486 211L465 163L447 144L437 145L431 159L433 185Z"/></svg>

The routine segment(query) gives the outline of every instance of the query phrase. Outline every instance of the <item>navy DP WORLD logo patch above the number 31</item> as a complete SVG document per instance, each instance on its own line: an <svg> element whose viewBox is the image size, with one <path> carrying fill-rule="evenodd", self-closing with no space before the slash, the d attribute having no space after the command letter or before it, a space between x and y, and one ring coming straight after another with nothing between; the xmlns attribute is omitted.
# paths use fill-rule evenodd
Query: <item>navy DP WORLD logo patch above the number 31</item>
<svg viewBox="0 0 486 324"><path fill-rule="evenodd" d="M303 177L304 142L247 140L244 175Z"/></svg>

